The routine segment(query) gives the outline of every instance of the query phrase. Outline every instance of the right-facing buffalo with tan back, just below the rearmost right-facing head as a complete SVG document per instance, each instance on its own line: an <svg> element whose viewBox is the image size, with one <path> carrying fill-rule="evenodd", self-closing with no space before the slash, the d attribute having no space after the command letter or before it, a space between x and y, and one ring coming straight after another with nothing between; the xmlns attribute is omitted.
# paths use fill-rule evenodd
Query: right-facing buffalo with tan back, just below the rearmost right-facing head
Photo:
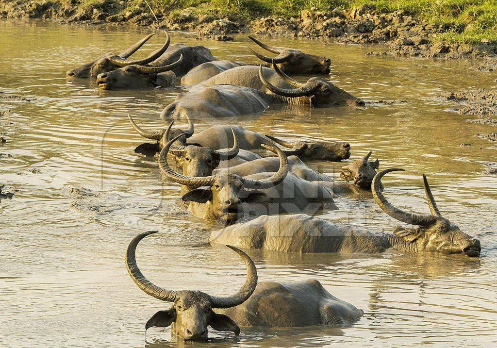
<svg viewBox="0 0 497 348"><path fill-rule="evenodd" d="M272 66L273 69L262 66L258 68L254 66L233 68L200 83L198 86L227 84L250 87L272 94L280 102L289 104L364 106L364 100L334 86L328 80L312 77L305 84L302 84L288 77L276 64Z"/></svg>

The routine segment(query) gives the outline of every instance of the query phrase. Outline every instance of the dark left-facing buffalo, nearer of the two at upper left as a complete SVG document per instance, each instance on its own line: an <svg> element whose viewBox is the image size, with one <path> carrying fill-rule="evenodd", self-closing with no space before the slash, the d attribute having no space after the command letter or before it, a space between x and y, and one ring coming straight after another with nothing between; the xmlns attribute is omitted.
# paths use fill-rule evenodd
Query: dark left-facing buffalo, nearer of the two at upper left
<svg viewBox="0 0 497 348"><path fill-rule="evenodd" d="M176 76L171 71L183 61L180 55L174 63L163 66L128 65L96 78L98 89L147 88L174 86Z"/></svg>

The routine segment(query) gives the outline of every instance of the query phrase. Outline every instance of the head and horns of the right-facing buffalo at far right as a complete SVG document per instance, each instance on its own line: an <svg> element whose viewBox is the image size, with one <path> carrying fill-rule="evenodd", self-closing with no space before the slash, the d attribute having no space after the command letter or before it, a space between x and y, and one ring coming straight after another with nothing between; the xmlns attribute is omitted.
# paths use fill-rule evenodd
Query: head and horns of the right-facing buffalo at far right
<svg viewBox="0 0 497 348"><path fill-rule="evenodd" d="M430 215L407 212L387 201L381 190L381 178L395 171L404 170L393 168L381 171L374 177L371 188L376 202L385 213L404 223L419 226L417 228L398 227L394 231L394 234L403 240L405 249L417 252L479 256L480 241L464 233L457 225L442 216L424 174L424 192L428 200Z"/></svg>

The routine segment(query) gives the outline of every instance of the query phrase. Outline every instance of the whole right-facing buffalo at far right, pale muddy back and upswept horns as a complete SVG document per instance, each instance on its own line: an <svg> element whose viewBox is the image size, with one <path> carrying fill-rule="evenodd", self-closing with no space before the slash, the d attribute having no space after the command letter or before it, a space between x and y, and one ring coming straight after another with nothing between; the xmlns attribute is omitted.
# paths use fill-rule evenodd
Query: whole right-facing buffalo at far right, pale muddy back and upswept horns
<svg viewBox="0 0 497 348"><path fill-rule="evenodd" d="M376 174L372 190L378 205L390 216L416 229L398 227L394 234L373 233L364 228L332 223L305 214L260 216L243 224L225 227L211 234L211 242L243 249L264 249L292 253L382 253L390 248L406 253L480 255L480 241L462 232L443 218L431 194L426 176L424 189L431 215L405 212L389 203L382 194L381 177L400 169Z"/></svg>

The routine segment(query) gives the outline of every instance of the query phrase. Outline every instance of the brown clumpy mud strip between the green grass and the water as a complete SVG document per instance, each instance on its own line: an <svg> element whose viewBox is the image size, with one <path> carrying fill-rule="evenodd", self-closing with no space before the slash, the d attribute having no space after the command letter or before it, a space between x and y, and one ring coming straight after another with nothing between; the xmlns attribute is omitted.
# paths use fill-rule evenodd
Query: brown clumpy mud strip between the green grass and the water
<svg viewBox="0 0 497 348"><path fill-rule="evenodd" d="M403 10L374 13L367 7L351 10L332 9L327 12L302 10L299 16L261 17L255 20L199 14L195 8L161 13L151 10L145 2L96 0L75 3L71 0L0 0L0 18L58 19L75 24L129 24L168 30L187 30L214 40L233 40L230 34L253 32L259 35L279 35L305 38L336 38L354 44L387 44L388 51L370 54L395 54L460 58L488 57L497 47L487 39L479 44L445 44L436 41L447 30L442 25L429 24L413 18ZM493 67L482 66L482 70Z"/></svg>

